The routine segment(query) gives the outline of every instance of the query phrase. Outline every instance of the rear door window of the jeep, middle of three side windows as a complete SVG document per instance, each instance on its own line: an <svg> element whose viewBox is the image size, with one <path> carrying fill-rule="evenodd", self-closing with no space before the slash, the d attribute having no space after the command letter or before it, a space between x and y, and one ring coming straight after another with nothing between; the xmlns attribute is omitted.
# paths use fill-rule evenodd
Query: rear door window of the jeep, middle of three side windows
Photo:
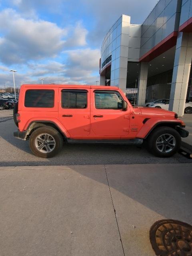
<svg viewBox="0 0 192 256"><path fill-rule="evenodd" d="M62 90L62 108L86 108L86 90Z"/></svg>

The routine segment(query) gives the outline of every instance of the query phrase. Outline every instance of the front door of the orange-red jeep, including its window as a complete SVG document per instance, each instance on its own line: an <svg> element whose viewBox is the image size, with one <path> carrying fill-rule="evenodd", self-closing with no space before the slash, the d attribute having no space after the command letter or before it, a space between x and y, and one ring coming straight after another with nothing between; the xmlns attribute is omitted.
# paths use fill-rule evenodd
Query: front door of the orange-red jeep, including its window
<svg viewBox="0 0 192 256"><path fill-rule="evenodd" d="M91 129L98 137L128 137L130 108L122 110L124 100L117 90L91 89Z"/></svg>

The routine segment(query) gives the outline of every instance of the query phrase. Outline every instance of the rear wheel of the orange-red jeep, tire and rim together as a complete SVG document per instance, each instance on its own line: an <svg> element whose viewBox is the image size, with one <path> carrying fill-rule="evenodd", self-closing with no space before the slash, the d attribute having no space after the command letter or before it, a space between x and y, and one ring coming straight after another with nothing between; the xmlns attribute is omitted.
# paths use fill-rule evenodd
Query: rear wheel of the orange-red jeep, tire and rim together
<svg viewBox="0 0 192 256"><path fill-rule="evenodd" d="M29 146L34 155L50 158L61 150L63 138L56 129L50 126L42 126L32 132L29 138Z"/></svg>

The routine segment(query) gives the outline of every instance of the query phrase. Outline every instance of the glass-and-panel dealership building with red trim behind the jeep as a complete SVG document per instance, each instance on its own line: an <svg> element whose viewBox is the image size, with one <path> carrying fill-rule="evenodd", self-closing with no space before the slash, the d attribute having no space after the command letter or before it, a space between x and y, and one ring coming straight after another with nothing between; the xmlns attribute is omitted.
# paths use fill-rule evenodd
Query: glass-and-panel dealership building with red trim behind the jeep
<svg viewBox="0 0 192 256"><path fill-rule="evenodd" d="M170 99L182 116L192 101L192 0L160 0L142 25L130 20L122 15L103 40L100 84L136 96L139 106Z"/></svg>

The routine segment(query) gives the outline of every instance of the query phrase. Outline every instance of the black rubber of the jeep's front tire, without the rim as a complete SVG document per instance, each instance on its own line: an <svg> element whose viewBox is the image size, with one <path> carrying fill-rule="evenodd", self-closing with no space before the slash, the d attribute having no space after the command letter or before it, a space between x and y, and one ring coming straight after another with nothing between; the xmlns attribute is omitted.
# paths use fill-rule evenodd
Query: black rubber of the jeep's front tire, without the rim
<svg viewBox="0 0 192 256"><path fill-rule="evenodd" d="M162 134L166 134L166 133L174 136L174 138L176 140L176 145L175 145L174 149L168 153L160 152L156 148L156 141L157 141L158 137L161 136ZM178 152L178 150L180 149L180 146L181 146L181 136L174 128L171 128L171 127L163 126L163 127L156 128L148 137L148 149L152 154L154 154L155 156L158 156L158 157L173 156L176 152Z"/></svg>

